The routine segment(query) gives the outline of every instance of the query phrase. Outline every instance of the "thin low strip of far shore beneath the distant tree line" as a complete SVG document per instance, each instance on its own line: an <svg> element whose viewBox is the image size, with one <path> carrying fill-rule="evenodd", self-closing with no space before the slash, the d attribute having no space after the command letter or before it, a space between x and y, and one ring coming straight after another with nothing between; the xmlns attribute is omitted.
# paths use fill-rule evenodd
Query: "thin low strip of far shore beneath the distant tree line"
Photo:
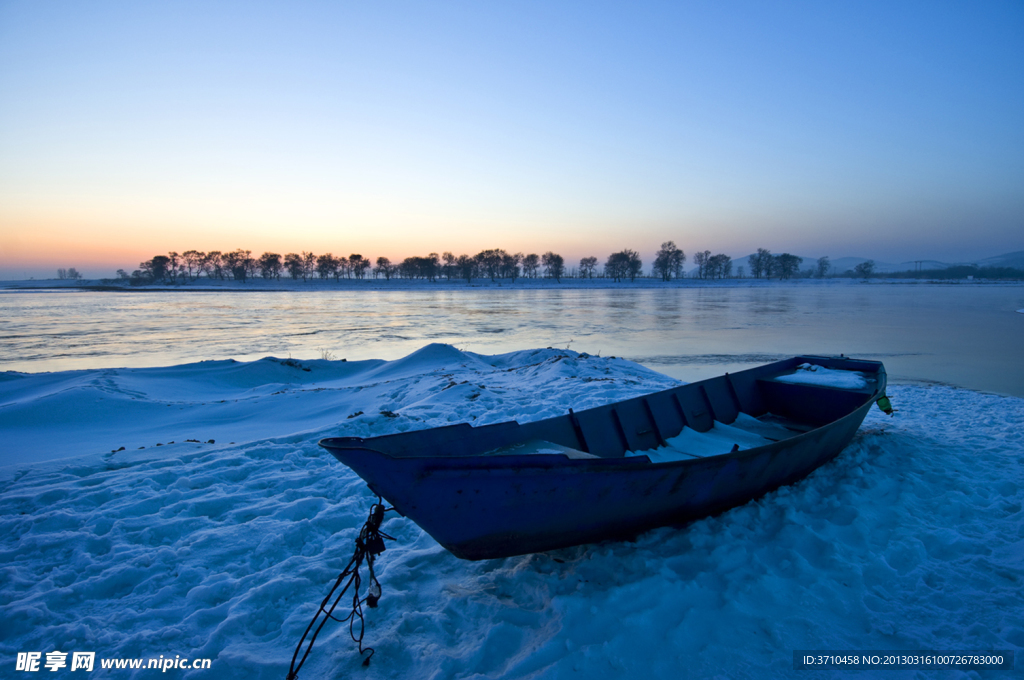
<svg viewBox="0 0 1024 680"><path fill-rule="evenodd" d="M515 283L508 280L492 282L487 279L474 279L471 284L457 280L424 280L392 279L342 279L341 281L319 279L309 281L266 281L251 279L245 283L239 281L198 281L188 284L147 284L131 286L106 283L103 280L28 280L0 281L0 291L90 291L99 293L137 293L137 292L171 292L171 293L324 293L350 291L467 291L467 290L657 290L657 289L701 289L701 288L775 288L779 286L791 288L820 288L833 286L1024 286L1022 281L1014 280L973 280L964 279L677 279L670 282L657 279L637 279L634 282L614 282L610 279L563 279L560 283L553 279L518 279Z"/></svg>

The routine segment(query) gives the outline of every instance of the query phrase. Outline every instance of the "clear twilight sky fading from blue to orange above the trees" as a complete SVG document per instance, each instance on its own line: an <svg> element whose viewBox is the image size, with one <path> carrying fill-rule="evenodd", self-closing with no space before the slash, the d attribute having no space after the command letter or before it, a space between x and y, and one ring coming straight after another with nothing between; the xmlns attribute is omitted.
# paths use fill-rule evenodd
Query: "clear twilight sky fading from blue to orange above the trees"
<svg viewBox="0 0 1024 680"><path fill-rule="evenodd" d="M0 279L1024 250L1020 2L0 2Z"/></svg>

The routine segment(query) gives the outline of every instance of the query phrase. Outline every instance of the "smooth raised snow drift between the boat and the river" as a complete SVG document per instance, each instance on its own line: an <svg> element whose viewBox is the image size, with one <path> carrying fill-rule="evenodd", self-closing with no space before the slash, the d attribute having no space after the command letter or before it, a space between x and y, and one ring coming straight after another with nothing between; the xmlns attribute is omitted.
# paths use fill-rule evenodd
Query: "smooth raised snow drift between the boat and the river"
<svg viewBox="0 0 1024 680"><path fill-rule="evenodd" d="M7 372L0 374L0 466L112 452L120 461L122 447L137 452L173 442L175 453L201 453L214 449L211 439L219 448L539 420L675 384L631 362L571 350L486 356L440 344L394 362L267 357Z"/></svg>

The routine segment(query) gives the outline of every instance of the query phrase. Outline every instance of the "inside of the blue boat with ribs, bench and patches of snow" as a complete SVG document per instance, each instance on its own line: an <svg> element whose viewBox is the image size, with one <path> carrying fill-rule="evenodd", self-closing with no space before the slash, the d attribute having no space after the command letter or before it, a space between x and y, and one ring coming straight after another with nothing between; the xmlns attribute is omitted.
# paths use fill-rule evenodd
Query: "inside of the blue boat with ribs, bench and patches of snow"
<svg viewBox="0 0 1024 680"><path fill-rule="evenodd" d="M531 423L460 424L331 443L396 458L560 454L668 462L799 436L853 413L884 389L878 362L797 356Z"/></svg>

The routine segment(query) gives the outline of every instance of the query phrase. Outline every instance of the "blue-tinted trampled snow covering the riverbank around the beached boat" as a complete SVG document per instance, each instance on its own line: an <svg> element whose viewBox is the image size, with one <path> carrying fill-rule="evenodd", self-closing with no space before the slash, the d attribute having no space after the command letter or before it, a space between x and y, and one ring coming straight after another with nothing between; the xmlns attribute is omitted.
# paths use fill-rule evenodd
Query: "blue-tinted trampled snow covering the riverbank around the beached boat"
<svg viewBox="0 0 1024 680"><path fill-rule="evenodd" d="M375 501L318 438L526 421L673 384L569 350L439 345L397 362L8 373L3 663L181 654L213 658L218 678L283 678ZM803 481L633 542L466 562L389 513L373 663L329 623L301 677L792 677L794 649L1012 649L1019 667L1024 399L888 391L895 418L872 410Z"/></svg>

